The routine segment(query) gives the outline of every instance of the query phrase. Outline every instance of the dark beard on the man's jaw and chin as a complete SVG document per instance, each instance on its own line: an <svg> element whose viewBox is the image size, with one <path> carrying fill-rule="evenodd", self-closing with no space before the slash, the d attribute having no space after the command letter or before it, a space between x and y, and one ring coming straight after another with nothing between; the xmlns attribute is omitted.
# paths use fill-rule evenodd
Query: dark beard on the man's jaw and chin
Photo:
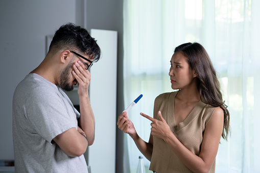
<svg viewBox="0 0 260 173"><path fill-rule="evenodd" d="M59 86L61 89L65 91L73 90L73 85L68 83L70 76L70 68L72 68L72 62L70 62L62 71L59 77Z"/></svg>

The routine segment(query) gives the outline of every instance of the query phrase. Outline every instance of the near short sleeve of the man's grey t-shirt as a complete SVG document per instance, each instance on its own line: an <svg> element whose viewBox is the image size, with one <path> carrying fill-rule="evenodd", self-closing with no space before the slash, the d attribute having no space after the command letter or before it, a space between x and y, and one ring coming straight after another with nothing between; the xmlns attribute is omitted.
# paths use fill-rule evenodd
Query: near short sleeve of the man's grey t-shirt
<svg viewBox="0 0 260 173"><path fill-rule="evenodd" d="M26 118L46 141L70 128L77 128L60 95L53 89L35 89L26 101ZM75 117L76 118L76 117Z"/></svg>

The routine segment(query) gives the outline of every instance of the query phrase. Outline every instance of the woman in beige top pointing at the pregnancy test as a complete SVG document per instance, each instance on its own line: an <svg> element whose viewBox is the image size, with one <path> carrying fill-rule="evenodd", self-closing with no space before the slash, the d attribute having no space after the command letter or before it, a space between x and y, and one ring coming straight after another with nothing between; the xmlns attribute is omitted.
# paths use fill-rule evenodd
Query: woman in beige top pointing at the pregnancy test
<svg viewBox="0 0 260 173"><path fill-rule="evenodd" d="M199 43L175 48L169 76L175 92L155 98L149 142L136 133L123 112L117 121L154 172L215 172L221 136L227 140L229 112L222 101L216 71Z"/></svg>

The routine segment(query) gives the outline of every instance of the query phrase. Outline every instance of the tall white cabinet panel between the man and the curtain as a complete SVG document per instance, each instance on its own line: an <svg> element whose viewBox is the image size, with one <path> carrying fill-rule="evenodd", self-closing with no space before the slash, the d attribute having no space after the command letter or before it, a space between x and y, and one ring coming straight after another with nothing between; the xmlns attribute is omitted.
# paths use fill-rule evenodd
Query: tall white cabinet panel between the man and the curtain
<svg viewBox="0 0 260 173"><path fill-rule="evenodd" d="M90 104L96 121L96 137L88 150L91 172L115 172L117 31L90 30L102 52L90 68Z"/></svg>

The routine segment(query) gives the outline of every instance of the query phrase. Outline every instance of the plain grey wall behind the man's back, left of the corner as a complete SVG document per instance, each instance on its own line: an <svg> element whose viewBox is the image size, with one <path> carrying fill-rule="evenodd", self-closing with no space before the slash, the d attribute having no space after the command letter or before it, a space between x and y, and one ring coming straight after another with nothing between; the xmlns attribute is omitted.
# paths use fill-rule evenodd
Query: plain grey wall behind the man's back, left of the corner
<svg viewBox="0 0 260 173"><path fill-rule="evenodd" d="M14 159L12 96L45 57L45 36L76 22L76 0L0 1L0 160Z"/></svg>

